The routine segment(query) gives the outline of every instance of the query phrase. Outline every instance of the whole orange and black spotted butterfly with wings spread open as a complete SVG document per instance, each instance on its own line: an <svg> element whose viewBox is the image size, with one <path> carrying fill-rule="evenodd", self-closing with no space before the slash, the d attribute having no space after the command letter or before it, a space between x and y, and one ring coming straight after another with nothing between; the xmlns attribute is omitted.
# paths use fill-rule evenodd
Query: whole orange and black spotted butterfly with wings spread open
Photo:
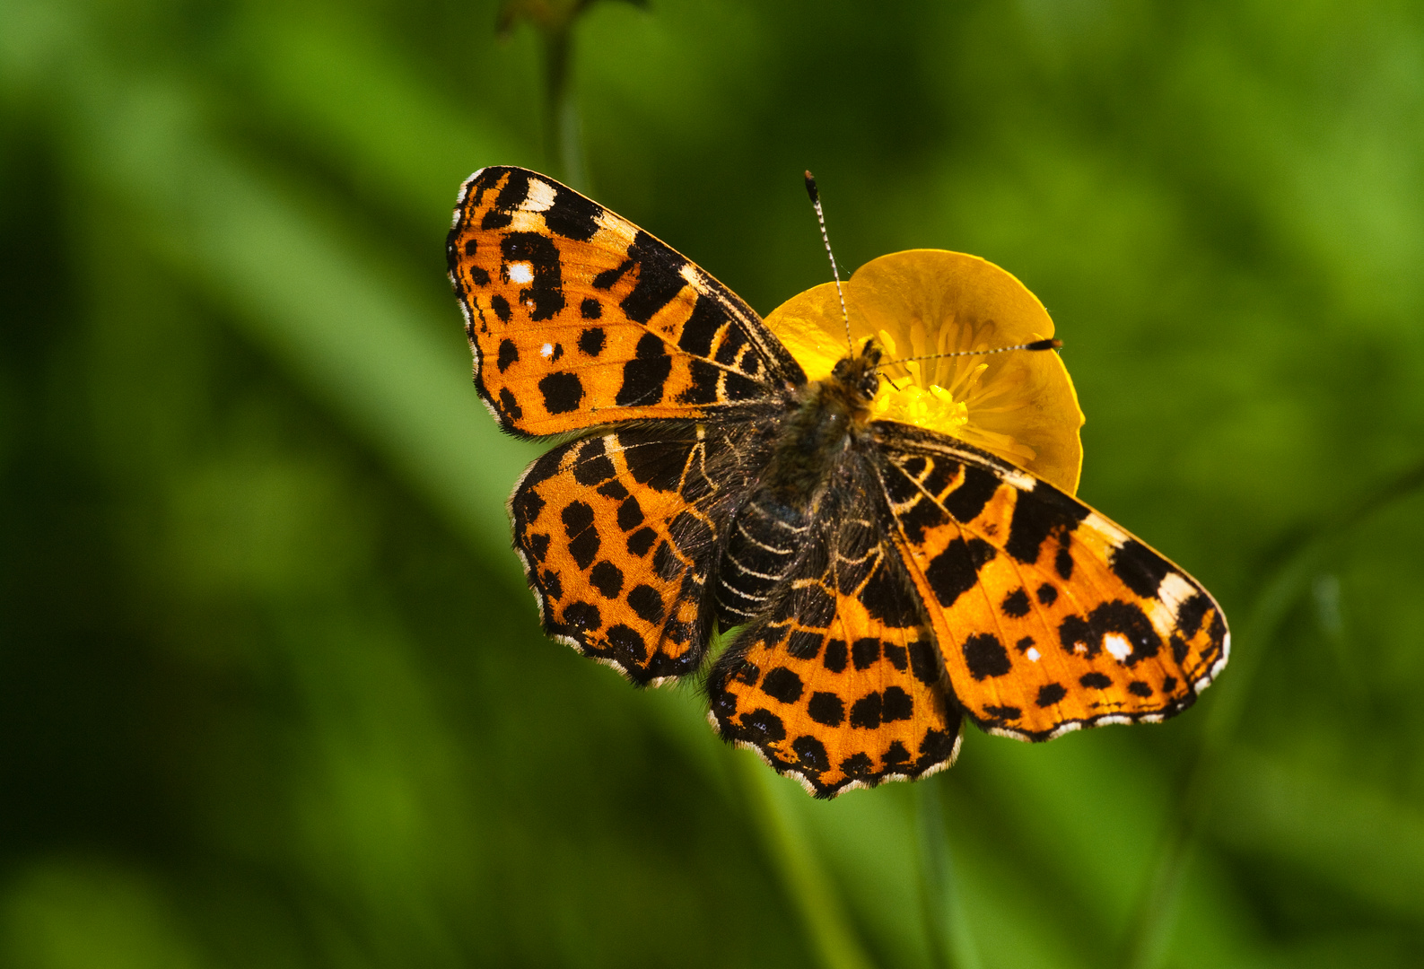
<svg viewBox="0 0 1424 969"><path fill-rule="evenodd" d="M1226 619L1176 565L877 417L883 340L812 380L701 268L523 168L466 181L447 255L480 397L562 438L508 502L545 632L637 684L705 673L721 736L812 794L944 768L965 719L1163 720L1225 667Z"/></svg>

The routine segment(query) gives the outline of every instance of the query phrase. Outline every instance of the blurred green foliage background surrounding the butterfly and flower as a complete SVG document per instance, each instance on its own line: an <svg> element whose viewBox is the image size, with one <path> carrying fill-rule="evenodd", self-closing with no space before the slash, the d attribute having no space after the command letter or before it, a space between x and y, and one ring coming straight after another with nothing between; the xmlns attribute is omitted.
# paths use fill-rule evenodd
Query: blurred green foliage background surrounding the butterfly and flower
<svg viewBox="0 0 1424 969"><path fill-rule="evenodd" d="M1424 6L521 11L0 0L0 965L1424 965ZM849 268L1018 275L1220 683L816 803L545 640L487 164L763 313L803 168Z"/></svg>

